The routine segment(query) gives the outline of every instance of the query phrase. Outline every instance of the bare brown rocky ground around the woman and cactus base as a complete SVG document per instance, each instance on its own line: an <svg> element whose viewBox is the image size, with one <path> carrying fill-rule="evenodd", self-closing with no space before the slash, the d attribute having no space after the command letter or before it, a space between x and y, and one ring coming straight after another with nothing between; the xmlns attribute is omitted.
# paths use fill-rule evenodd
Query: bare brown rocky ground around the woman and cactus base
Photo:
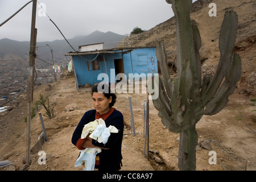
<svg viewBox="0 0 256 182"><path fill-rule="evenodd" d="M90 92L77 93L75 77L70 75L58 82L41 85L35 89L34 101L39 100L39 95L54 102L56 117L49 119L43 116L48 142L43 144L46 152L46 164L40 165L38 152L31 154L31 165L27 170L81 170L75 168L79 150L71 143L72 133L86 110L93 109ZM135 137L130 129L131 97L135 122ZM177 155L179 134L168 131L163 126L158 111L150 101L150 137L149 160L147 150L144 156L143 116L144 100L146 93L117 94L115 108L123 113L126 129L123 135L123 167L122 170L179 170L177 168ZM1 115L0 126L0 160L9 160L14 163L1 170L20 170L26 159L27 123L24 117L27 113L26 95L21 95L14 108ZM73 105L67 111L68 105ZM66 109L65 109L66 107ZM255 170L255 134L251 133L245 122L237 118L240 113L254 131L256 130L256 113L250 97L234 93L230 102L220 113L213 116L204 116L197 123L199 146L197 147L197 170ZM239 110L239 111L238 111ZM45 110L42 109L45 115ZM31 146L38 140L42 127L38 113L32 119ZM203 146L201 145L202 143ZM200 147L201 146L201 147ZM204 147L204 148L203 148ZM210 148L208 148L210 147ZM207 149L205 149L207 148ZM217 155L216 164L209 164L210 151Z"/></svg>

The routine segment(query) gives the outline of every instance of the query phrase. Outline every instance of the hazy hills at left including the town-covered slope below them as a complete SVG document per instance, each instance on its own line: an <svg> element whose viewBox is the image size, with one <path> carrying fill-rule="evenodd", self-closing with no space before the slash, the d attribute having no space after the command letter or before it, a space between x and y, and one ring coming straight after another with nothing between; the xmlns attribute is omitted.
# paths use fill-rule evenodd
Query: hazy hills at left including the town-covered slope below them
<svg viewBox="0 0 256 182"><path fill-rule="evenodd" d="M68 39L72 47L78 51L79 46L92 43L104 42L104 49L114 48L125 38L125 35L114 32L94 31L90 35L76 36ZM48 44L49 46L46 46ZM52 55L54 64L60 65L64 69L72 59L65 56L66 53L74 51L65 40L55 40L53 42L36 43L35 59L35 86L53 82ZM12 92L24 92L27 88L27 77L29 75L29 48L30 42L18 42L16 40L0 40L0 96L8 96ZM56 73L57 77L60 76Z"/></svg>

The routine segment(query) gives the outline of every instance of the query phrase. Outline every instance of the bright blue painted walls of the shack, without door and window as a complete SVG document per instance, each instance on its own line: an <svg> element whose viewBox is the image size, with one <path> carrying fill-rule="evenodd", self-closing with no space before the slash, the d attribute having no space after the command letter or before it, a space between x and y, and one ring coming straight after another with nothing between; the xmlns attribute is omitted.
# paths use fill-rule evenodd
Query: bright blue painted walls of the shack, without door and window
<svg viewBox="0 0 256 182"><path fill-rule="evenodd" d="M117 59L123 59L124 73L127 78L129 78L129 73L138 73L139 75L141 73L158 73L155 48L133 49L133 51L123 55L121 53L105 54L106 69L102 55L98 55L98 57L97 54L81 56L72 56L72 59L77 84L82 87L85 84L94 85L101 82L103 78L102 80L97 80L100 73L107 73L109 82L115 81L115 77L113 78L113 72L110 74L110 69L112 69L112 71L115 69L114 60ZM98 70L92 70L90 67L90 60L94 59L99 60L98 63L100 65L100 69ZM89 61L89 69L86 60Z"/></svg>

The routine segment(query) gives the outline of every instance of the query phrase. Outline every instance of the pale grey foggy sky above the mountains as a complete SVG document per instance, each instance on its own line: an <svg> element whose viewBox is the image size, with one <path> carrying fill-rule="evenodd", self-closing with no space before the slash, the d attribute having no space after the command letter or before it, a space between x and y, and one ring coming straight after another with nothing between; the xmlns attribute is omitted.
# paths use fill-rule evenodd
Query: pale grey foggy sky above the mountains
<svg viewBox="0 0 256 182"><path fill-rule="evenodd" d="M29 0L1 0L0 23L13 15ZM39 0L37 4L37 42L63 40L63 36L49 20L60 28L67 39L89 35L93 31L126 35L134 27L150 30L170 19L171 5L166 0ZM32 2L14 18L0 27L0 39L30 41ZM49 17L48 17L49 16Z"/></svg>

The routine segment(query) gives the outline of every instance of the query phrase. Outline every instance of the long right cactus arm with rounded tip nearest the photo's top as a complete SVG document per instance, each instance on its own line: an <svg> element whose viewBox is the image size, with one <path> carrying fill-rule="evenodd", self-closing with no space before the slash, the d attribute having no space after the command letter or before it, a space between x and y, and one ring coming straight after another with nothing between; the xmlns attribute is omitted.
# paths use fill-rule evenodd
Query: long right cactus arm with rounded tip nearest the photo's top
<svg viewBox="0 0 256 182"><path fill-rule="evenodd" d="M220 62L217 71L210 82L207 90L203 93L203 105L206 105L216 94L220 84L230 68L232 62L232 50L236 40L238 18L234 11L229 11L225 14L224 21L221 26L219 48Z"/></svg>

